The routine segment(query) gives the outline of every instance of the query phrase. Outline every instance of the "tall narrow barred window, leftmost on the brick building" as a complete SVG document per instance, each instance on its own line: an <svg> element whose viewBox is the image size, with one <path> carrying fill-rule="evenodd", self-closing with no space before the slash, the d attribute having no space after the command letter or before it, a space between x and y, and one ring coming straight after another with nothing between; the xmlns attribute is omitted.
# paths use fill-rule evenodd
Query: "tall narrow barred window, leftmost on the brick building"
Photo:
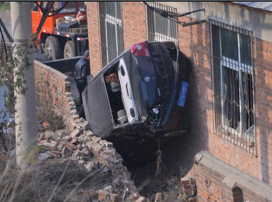
<svg viewBox="0 0 272 202"><path fill-rule="evenodd" d="M124 50L121 2L99 2L101 64L106 66Z"/></svg>

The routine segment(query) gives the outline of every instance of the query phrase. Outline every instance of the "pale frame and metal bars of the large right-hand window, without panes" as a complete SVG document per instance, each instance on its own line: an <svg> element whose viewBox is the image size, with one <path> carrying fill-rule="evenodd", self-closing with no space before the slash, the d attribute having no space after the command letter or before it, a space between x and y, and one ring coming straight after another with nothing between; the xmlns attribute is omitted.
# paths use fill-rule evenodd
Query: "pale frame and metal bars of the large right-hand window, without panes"
<svg viewBox="0 0 272 202"><path fill-rule="evenodd" d="M220 49L220 58L217 58L217 59L220 59L220 78L215 78L215 68L217 67L216 64L214 64L214 53L213 53L213 43L214 43L214 36L213 36L213 25L214 26L218 26L219 27L219 31L218 31L218 35L219 35L219 49ZM221 39L221 31L222 31L222 28L224 29L227 29L227 30L231 30L231 31L235 31L235 34L236 34L236 37L237 37L237 47L238 47L238 61L235 60L235 59L231 59L229 57L226 57L226 56L223 56L223 53L222 53L222 39ZM233 30L234 29L234 30ZM246 63L243 63L242 62L242 58L241 58L241 39L240 39L240 35L246 35L246 36L249 36L250 37L250 60L251 60L251 64L246 64ZM215 36L216 37L216 36ZM248 148L247 148L247 143L253 143L254 144L254 149L251 151L249 149L249 153L252 153L253 155L256 155L257 151L256 151L256 121L255 121L255 81L254 81L254 66L253 66L253 43L252 43L252 32L251 31L248 31L248 30L244 30L244 29L241 29L239 27L234 27L234 26L231 26L231 25L227 25L227 24L224 24L224 23L221 23L221 22L218 22L218 21L215 21L215 20L212 20L210 19L210 39L211 39L211 67L212 67L212 90L213 90L213 118L214 118L214 133L215 134L222 134L222 132L218 132L218 129L220 130L222 127L223 130L227 130L227 132L230 132L231 134L234 134L234 136L236 136L236 142L235 142L235 138L233 140L233 144L234 145L238 145L238 139L240 138L240 148L242 149L245 149L245 146L243 145L241 147L241 142L242 142L242 139L245 139L246 140L246 150L248 151ZM216 62L217 63L217 62ZM218 64L218 63L217 63ZM225 124L225 100L224 100L224 73L223 73L223 67L225 68L229 68L235 72L237 72L239 74L239 116L240 116L240 120L237 119L237 124L239 125L239 130L240 131L237 131L236 129L232 128L232 126L228 126ZM218 68L218 67L217 67ZM242 130L242 125L244 125L246 122L245 119L244 119L244 115L243 115L243 105L245 105L245 102L243 101L243 90L245 90L244 88L246 88L243 84L243 77L244 75L243 74L248 74L248 75L251 75L252 77L252 86L250 87L250 89L247 89L247 90L252 90L252 95L248 95L248 96L252 96L252 107L250 109L250 111L252 110L253 114L252 114L252 125L247 129L245 128L245 131ZM221 108L221 124L217 125L216 123L216 118L218 119L217 116L217 110L218 109L218 106L216 106L216 101L215 101L215 79L220 79L220 81L218 83L220 83L220 95L221 95L221 106L219 106ZM218 101L219 102L219 101ZM220 117L219 117L220 118ZM246 123L247 124L247 123ZM230 129L230 131L228 131ZM252 131L252 137L251 137L251 131ZM244 134L243 134L244 133ZM225 135L224 135L225 136ZM232 140L229 140L229 138L225 138L223 137L222 135L222 138L227 140L228 142L232 142ZM230 138L231 139L231 138ZM249 139L249 141L248 141ZM244 144L244 140L243 140L243 144Z"/></svg>

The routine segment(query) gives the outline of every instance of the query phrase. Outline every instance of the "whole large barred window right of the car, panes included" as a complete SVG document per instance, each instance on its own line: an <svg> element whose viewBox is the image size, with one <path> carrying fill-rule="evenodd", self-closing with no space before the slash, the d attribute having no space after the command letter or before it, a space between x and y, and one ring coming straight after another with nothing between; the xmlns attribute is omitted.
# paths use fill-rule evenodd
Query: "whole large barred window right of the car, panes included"
<svg viewBox="0 0 272 202"><path fill-rule="evenodd" d="M252 32L210 20L214 132L256 155Z"/></svg>

